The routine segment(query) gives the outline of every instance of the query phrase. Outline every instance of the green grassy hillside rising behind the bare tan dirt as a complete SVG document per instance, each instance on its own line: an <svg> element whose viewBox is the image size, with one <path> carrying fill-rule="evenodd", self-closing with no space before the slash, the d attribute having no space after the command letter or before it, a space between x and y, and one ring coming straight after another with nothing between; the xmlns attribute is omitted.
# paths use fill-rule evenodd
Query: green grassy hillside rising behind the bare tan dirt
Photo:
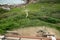
<svg viewBox="0 0 60 40"><path fill-rule="evenodd" d="M28 10L28 17L26 11ZM60 30L60 4L35 3L26 7L12 8L10 11L0 9L0 33L16 28L30 26L47 26Z"/></svg>

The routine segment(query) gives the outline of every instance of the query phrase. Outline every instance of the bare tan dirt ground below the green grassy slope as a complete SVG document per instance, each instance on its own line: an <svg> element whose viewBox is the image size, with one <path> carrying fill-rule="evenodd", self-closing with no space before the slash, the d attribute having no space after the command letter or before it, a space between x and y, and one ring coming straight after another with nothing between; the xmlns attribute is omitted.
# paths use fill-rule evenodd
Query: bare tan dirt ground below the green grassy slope
<svg viewBox="0 0 60 40"><path fill-rule="evenodd" d="M45 31L48 31L50 34L56 35L56 37L60 37L59 31L53 28L45 28L45 27L28 27L28 28L21 28L21 29L16 29L13 31L16 31L17 33L21 34L21 36L36 36L37 31L43 29Z"/></svg>

